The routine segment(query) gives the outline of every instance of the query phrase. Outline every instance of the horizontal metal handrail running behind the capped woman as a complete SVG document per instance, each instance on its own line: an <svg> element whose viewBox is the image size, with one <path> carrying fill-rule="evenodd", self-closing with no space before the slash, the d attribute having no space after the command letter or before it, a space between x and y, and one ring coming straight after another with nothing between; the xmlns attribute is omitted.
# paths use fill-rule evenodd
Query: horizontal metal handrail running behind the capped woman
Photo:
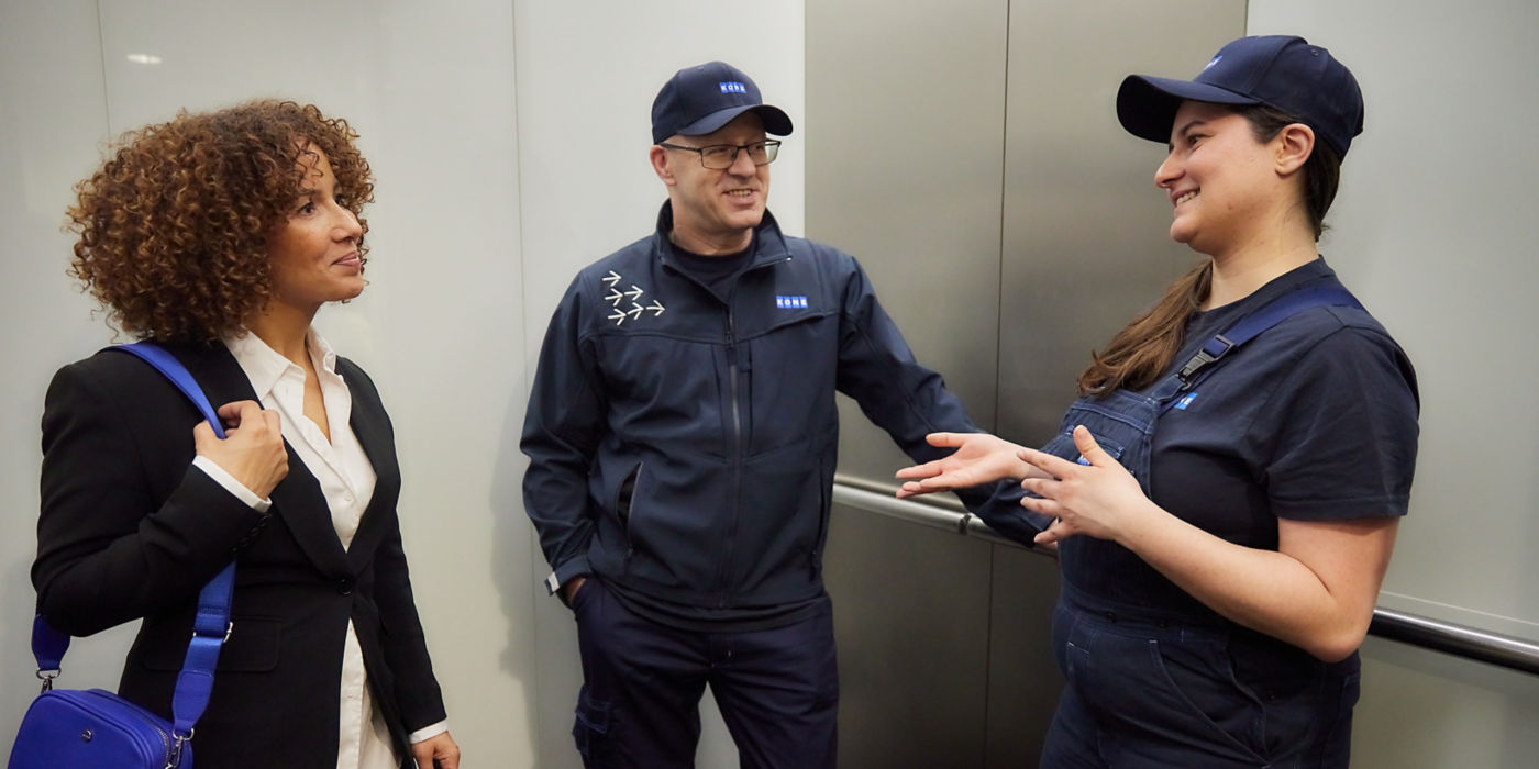
<svg viewBox="0 0 1539 769"><path fill-rule="evenodd" d="M893 497L893 492L891 486L845 474L834 475L834 503L837 504L900 518L933 529L950 531L963 537L974 537L994 544L1020 548L1039 555L1056 557L1051 549L1028 548L1016 540L1000 537L977 515L966 512L962 503L951 495L899 500ZM1434 652L1451 654L1465 660L1539 675L1539 643L1528 638L1502 635L1499 632L1382 608L1373 611L1368 634Z"/></svg>

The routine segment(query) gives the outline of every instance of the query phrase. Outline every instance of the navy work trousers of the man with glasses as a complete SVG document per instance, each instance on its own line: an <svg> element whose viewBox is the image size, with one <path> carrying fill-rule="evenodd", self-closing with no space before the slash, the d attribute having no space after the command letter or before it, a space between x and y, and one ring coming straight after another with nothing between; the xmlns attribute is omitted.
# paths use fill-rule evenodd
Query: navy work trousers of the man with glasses
<svg viewBox="0 0 1539 769"><path fill-rule="evenodd" d="M833 767L833 604L768 631L682 631L639 617L597 578L573 600L583 686L573 737L589 769L694 766L709 686L745 769Z"/></svg>

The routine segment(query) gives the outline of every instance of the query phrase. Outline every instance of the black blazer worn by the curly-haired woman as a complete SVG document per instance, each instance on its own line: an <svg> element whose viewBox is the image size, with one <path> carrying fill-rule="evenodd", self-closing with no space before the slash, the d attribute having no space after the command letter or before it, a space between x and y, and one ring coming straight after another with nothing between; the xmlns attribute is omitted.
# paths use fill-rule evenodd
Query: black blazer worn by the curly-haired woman
<svg viewBox="0 0 1539 769"><path fill-rule="evenodd" d="M219 408L255 400L223 345L166 345ZM400 546L394 434L374 383L339 358L351 426L379 481L343 551L315 477L289 474L260 514L191 466L197 409L159 371L98 352L54 375L43 408L38 611L72 635L143 617L120 694L169 718L197 594L235 558L234 629L192 740L199 766L336 767L348 620L397 754L445 718Z"/></svg>

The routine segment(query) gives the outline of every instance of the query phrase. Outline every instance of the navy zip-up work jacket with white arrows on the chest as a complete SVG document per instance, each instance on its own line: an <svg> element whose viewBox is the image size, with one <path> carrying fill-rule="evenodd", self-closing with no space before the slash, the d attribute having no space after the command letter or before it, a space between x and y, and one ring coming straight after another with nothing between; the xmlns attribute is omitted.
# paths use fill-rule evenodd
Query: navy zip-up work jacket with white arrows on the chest
<svg viewBox="0 0 1539 769"><path fill-rule="evenodd" d="M766 212L717 297L679 268L671 229L665 203L651 237L577 274L545 335L522 449L549 584L597 574L722 609L808 600L822 592L834 392L916 461L943 454L925 434L977 428L854 257L783 235Z"/></svg>

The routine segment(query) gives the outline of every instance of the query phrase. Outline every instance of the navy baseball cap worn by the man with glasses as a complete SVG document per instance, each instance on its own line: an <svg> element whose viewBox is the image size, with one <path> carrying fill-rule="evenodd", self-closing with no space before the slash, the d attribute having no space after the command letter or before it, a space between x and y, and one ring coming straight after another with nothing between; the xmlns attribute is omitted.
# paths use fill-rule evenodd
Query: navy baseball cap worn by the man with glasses
<svg viewBox="0 0 1539 769"><path fill-rule="evenodd" d="M726 62L686 66L663 83L653 102L653 143L674 134L709 134L748 111L759 112L765 132L791 134L791 118L766 105L759 86L742 69Z"/></svg>

